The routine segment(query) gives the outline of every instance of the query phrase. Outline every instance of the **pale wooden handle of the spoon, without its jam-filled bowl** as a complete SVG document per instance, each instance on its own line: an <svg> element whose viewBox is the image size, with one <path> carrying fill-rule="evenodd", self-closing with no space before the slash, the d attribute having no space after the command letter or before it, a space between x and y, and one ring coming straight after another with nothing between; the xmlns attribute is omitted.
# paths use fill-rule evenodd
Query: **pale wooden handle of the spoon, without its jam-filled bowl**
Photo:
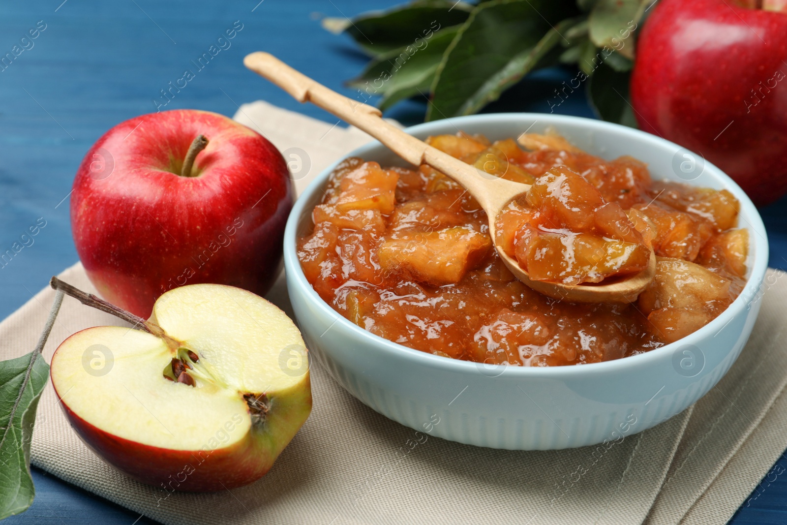
<svg viewBox="0 0 787 525"><path fill-rule="evenodd" d="M356 128L366 131L412 165L427 164L456 180L467 189L490 215L496 214L513 195L527 191L527 185L512 183L481 172L448 153L429 146L405 131L382 120L382 113L332 91L286 65L272 54L257 51L243 64L291 94L298 102L312 102ZM480 176L479 176L480 174ZM509 187L509 185L512 185ZM515 186L513 186L515 185Z"/></svg>

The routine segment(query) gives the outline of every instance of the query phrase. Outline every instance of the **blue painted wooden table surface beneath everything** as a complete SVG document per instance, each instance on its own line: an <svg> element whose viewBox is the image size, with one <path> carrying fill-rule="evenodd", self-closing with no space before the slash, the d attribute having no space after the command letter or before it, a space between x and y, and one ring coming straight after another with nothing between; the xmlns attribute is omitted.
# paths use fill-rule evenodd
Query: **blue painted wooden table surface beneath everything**
<svg viewBox="0 0 787 525"><path fill-rule="evenodd" d="M259 2L259 3L258 3ZM242 30L166 109L198 108L231 116L239 104L268 102L334 122L312 105L248 72L242 57L268 50L307 75L352 95L342 80L360 72L364 57L349 39L320 28L322 17L352 17L395 2L386 0L26 0L0 6L0 56L30 29L34 40L0 66L0 252L39 217L46 227L0 268L0 317L46 286L50 275L76 262L68 224L68 194L83 154L122 120L156 109L160 91L192 68L236 20ZM43 28L43 29L41 29ZM560 69L531 76L493 111L548 112L552 90L571 77ZM527 101L527 102L523 102ZM423 119L423 103L407 102L390 116L405 124ZM581 92L560 113L592 116ZM775 268L787 268L787 199L763 210ZM785 442L787 446L787 442ZM787 459L777 464L787 469ZM33 506L8 523L154 523L34 469ZM768 481L768 479L772 481ZM770 475L733 523L787 523L787 480ZM135 521L136 520L136 521Z"/></svg>

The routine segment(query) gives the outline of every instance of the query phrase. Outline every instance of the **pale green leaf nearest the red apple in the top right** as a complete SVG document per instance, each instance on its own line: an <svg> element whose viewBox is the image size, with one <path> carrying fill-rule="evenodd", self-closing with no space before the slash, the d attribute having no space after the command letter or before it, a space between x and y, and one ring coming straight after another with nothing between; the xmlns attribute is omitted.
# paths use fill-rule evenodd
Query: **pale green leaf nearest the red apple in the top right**
<svg viewBox="0 0 787 525"><path fill-rule="evenodd" d="M634 31L652 0L598 0L588 17L590 40L634 59Z"/></svg>

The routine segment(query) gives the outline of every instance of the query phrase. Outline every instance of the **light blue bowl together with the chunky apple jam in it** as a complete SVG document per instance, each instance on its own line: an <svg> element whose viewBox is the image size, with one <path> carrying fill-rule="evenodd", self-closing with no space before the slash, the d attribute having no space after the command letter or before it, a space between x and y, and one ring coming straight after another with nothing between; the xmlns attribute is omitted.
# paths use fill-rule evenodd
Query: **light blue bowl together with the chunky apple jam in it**
<svg viewBox="0 0 787 525"><path fill-rule="evenodd" d="M298 198L290 299L312 355L360 401L456 442L560 449L667 420L730 368L759 310L767 240L718 168L571 116L407 131L530 189L498 214L493 239L463 187L372 142ZM633 302L561 301L515 279L495 242L530 279L615 282L651 250L656 275Z"/></svg>

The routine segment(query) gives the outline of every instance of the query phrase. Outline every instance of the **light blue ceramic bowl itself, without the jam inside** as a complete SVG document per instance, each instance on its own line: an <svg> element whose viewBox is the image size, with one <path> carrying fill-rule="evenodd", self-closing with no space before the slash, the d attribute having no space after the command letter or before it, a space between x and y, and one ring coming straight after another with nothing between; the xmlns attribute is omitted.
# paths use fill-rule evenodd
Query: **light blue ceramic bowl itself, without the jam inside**
<svg viewBox="0 0 787 525"><path fill-rule="evenodd" d="M311 211L323 195L331 167L305 190L287 222L287 289L313 357L364 404L417 431L456 442L499 449L564 449L614 441L667 420L711 390L730 369L759 312L768 245L752 201L719 168L707 162L703 166L701 157L654 135L572 116L464 116L406 131L421 139L459 129L504 139L548 127L600 157L631 155L645 161L654 179L730 190L741 202L739 224L749 230L745 290L730 308L689 337L604 363L524 368L419 352L340 316L301 271L296 238L312 227ZM379 142L352 155L381 165L403 165Z"/></svg>

